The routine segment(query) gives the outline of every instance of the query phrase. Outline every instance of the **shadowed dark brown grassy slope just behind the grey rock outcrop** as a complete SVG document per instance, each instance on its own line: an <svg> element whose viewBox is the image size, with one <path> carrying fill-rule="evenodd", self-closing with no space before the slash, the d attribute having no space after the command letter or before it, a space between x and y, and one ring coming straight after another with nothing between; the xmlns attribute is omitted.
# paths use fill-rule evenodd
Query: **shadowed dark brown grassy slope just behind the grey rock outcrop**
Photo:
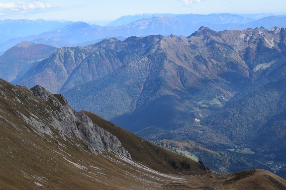
<svg viewBox="0 0 286 190"><path fill-rule="evenodd" d="M82 112L89 116L95 124L115 135L122 143L122 146L131 154L131 158L137 162L144 163L156 171L176 173L177 170L172 165L172 161L174 160L178 164L178 167L183 169L184 167L181 163L187 160L191 164L191 171L200 170L201 166L189 158L165 150L93 113Z"/></svg>

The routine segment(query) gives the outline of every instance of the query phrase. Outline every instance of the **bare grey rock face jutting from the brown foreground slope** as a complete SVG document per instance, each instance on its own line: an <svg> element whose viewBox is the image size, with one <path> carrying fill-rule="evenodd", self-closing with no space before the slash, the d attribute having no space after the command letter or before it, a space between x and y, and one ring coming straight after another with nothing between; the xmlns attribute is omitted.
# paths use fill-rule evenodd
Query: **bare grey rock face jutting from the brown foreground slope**
<svg viewBox="0 0 286 190"><path fill-rule="evenodd" d="M84 113L75 112L63 95L52 94L41 86L34 86L30 90L35 96L54 106L53 117L48 117L47 120L52 127L59 131L63 139L66 139L66 137L73 138L75 135L86 142L87 147L95 154L97 152L113 151L131 158L116 136L93 124L92 120ZM48 126L24 116L23 118L31 126L52 135L52 131Z"/></svg>

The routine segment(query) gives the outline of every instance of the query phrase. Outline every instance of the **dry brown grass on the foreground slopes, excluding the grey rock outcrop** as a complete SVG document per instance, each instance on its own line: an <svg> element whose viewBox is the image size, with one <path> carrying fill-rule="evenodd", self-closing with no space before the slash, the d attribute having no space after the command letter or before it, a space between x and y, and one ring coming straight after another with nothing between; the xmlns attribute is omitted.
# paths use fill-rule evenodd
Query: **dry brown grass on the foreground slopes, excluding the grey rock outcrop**
<svg viewBox="0 0 286 190"><path fill-rule="evenodd" d="M18 101L18 100L19 101ZM48 102L24 88L0 80L0 190L285 190L286 182L264 170L232 175L192 170L176 173L168 162L184 157L163 150L142 138L87 113L97 125L115 134L133 162L113 153L95 155L75 137L63 140L26 124L20 114L49 125ZM76 146L75 142L79 145ZM194 171L195 170L195 171Z"/></svg>

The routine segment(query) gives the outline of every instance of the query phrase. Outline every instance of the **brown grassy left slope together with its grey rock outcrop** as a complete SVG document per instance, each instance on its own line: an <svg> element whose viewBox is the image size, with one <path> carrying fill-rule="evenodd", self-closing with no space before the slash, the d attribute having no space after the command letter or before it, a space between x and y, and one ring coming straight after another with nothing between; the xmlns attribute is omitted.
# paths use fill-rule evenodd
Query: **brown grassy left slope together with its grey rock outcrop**
<svg viewBox="0 0 286 190"><path fill-rule="evenodd" d="M136 180L141 181L139 188L146 181L159 187L161 180L173 178L148 169L144 161L142 165L129 160L117 137L73 111L62 95L39 86L30 91L3 80L0 88L1 188L120 189L132 188ZM152 146L151 152L159 149ZM174 153L168 156L179 164L185 160ZM161 166L164 172L176 172L170 169L171 161ZM199 164L190 163L191 170L200 170ZM131 173L137 175L130 177ZM141 179L142 173L146 178ZM153 173L161 179L152 180Z"/></svg>

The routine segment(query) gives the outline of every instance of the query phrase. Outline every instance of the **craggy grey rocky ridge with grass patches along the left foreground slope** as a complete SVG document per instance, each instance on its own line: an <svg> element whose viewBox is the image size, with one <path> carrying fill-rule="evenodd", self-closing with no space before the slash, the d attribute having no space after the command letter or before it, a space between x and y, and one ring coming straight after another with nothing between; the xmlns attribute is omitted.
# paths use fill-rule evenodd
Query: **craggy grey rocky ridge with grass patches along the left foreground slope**
<svg viewBox="0 0 286 190"><path fill-rule="evenodd" d="M1 81L2 85L5 85L3 81ZM91 119L84 113L75 112L63 95L52 94L41 86L34 86L30 90L21 86L11 88L16 94L21 93L19 90L24 89L35 95L36 99L34 101L36 102L30 102L30 97L24 97L25 100L29 101L30 106L37 110L37 115L28 108L25 111L18 111L14 108L13 111L17 113L22 121L32 126L32 130L39 135L44 136L44 134L47 134L52 138L60 135L63 140L70 140L78 147L84 148L83 144L80 143L82 140L84 146L95 154L107 151L131 158L116 136L93 124ZM2 97L7 98L5 91L2 91L1 94ZM23 99L18 98L16 94L13 97L16 104L23 105ZM44 107L39 108L38 104ZM49 107L52 107L52 109ZM4 109L1 112L5 112ZM44 118L41 118L42 114L44 114Z"/></svg>

